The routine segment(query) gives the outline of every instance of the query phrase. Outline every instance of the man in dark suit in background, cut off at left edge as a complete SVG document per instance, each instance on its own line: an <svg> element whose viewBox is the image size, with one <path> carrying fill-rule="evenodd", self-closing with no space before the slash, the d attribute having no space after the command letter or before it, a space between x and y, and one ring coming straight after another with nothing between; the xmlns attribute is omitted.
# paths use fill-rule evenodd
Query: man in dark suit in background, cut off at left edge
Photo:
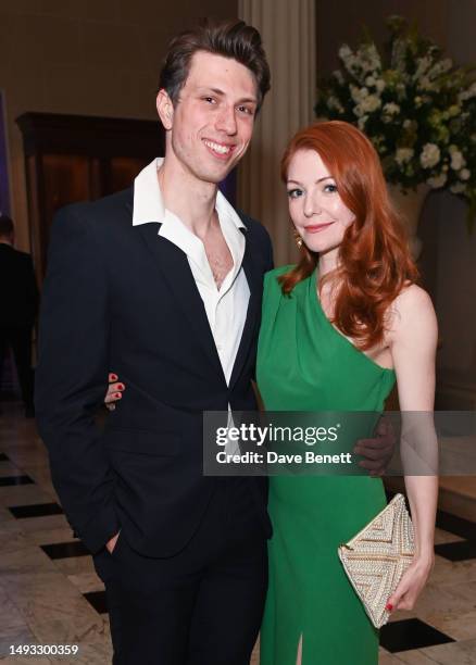
<svg viewBox="0 0 476 665"><path fill-rule="evenodd" d="M14 248L13 221L0 215L0 384L4 356L13 351L26 417L34 416L32 332L38 290L32 256Z"/></svg>

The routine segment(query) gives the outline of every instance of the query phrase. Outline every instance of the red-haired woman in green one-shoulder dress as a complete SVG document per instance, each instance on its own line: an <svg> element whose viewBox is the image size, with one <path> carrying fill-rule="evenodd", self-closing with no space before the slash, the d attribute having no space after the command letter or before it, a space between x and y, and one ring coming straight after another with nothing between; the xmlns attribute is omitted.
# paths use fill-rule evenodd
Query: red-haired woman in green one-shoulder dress
<svg viewBox="0 0 476 665"><path fill-rule="evenodd" d="M301 258L265 277L256 377L266 410L379 412L397 380L402 411L433 411L435 313L372 143L347 123L313 125L291 139L281 176ZM437 479L405 485L416 554L389 610L413 607L434 561ZM378 662L378 631L337 548L385 504L371 477L270 479L261 665Z"/></svg>

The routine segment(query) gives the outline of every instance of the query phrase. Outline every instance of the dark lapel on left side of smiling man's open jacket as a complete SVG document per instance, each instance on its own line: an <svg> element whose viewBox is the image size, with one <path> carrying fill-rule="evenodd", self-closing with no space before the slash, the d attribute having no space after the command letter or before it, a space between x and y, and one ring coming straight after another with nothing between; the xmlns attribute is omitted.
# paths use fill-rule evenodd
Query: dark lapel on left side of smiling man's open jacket
<svg viewBox="0 0 476 665"><path fill-rule="evenodd" d="M135 230L141 235L161 277L171 289L177 308L181 309L188 319L190 334L201 342L213 367L225 380L203 301L191 274L187 255L176 244L158 235L158 223L141 224Z"/></svg>

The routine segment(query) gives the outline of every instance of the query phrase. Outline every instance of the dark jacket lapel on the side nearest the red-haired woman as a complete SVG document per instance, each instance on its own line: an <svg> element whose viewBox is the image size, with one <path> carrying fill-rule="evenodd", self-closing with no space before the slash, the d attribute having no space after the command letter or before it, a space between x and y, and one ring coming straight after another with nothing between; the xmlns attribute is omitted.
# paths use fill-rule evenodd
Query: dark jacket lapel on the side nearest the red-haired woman
<svg viewBox="0 0 476 665"><path fill-rule="evenodd" d="M245 231L245 237L247 236L247 231ZM251 242L249 238L246 238L247 244L245 249L245 256L242 267L245 271L245 275L247 276L248 286L250 288L250 300L248 303L247 318L245 321L243 334L241 336L241 341L238 347L238 353L235 359L235 365L233 367L231 377L229 380L229 388L236 384L242 366L248 357L248 351L251 344L251 341L254 337L254 332L256 329L256 325L260 318L260 309L261 309L261 300L262 300L262 290L263 290L263 279L262 274L256 267L256 262L253 256L253 251L251 247Z"/></svg>

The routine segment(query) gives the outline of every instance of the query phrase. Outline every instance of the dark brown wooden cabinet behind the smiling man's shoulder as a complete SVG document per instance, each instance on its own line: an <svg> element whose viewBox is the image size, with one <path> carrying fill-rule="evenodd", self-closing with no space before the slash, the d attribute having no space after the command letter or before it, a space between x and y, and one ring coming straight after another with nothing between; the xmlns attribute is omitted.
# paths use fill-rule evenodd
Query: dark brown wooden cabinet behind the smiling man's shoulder
<svg viewBox="0 0 476 665"><path fill-rule="evenodd" d="M164 154L158 120L53 113L16 118L23 135L32 253L41 284L55 211L129 187L139 171Z"/></svg>

